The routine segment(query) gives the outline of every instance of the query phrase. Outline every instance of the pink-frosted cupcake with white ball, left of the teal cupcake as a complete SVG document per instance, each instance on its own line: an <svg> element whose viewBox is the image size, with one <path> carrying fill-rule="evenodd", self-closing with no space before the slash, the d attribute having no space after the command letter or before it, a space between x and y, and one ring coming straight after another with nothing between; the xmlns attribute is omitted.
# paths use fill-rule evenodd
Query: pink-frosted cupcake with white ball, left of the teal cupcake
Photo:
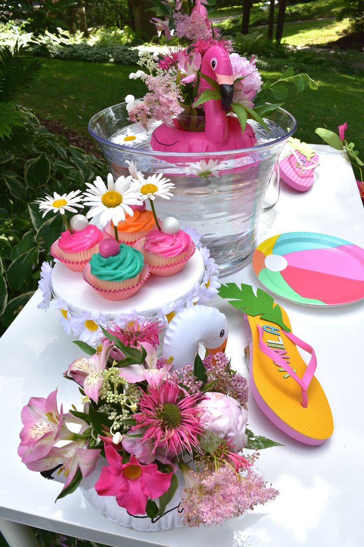
<svg viewBox="0 0 364 547"><path fill-rule="evenodd" d="M104 239L101 230L92 224L82 214L71 218L71 229L62 232L61 237L51 247L52 257L61 261L70 270L82 272L88 260L99 250L99 244Z"/></svg>

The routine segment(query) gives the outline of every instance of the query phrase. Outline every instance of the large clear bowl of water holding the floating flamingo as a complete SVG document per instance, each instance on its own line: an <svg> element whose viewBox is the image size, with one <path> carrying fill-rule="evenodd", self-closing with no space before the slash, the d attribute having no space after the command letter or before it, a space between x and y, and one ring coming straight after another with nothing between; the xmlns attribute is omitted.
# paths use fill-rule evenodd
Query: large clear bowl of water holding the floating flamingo
<svg viewBox="0 0 364 547"><path fill-rule="evenodd" d="M164 173L171 179L176 185L174 197L158 200L158 217L176 217L182 229L193 226L224 275L240 269L254 251L259 215L273 166L296 129L295 118L283 108L265 118L265 122L268 131L249 120L257 140L254 147L211 153L152 150L150 139L158 123L152 123L148 131L130 123L126 103L94 115L88 130L115 177L127 176L126 161L133 161L145 176ZM125 144L127 128L138 138ZM204 161L208 164L210 160L212 168L204 170Z"/></svg>

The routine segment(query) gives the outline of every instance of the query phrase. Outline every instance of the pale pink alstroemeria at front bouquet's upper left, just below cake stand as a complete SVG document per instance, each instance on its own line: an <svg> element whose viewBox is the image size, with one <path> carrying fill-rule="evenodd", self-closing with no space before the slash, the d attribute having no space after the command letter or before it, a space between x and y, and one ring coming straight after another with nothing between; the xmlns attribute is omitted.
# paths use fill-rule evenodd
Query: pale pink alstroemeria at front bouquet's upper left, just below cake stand
<svg viewBox="0 0 364 547"><path fill-rule="evenodd" d="M97 347L96 353L87 359L79 357L64 373L64 376L71 376L95 403L99 400L99 389L103 383L101 371L106 368L111 349L112 342L104 341Z"/></svg>

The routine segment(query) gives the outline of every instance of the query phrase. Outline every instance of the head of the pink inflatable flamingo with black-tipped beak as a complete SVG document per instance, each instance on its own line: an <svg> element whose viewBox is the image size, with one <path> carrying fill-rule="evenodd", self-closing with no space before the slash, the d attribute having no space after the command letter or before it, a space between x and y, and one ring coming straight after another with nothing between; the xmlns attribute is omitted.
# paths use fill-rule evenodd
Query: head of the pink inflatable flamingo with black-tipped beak
<svg viewBox="0 0 364 547"><path fill-rule="evenodd" d="M202 57L201 72L219 84L221 108L229 110L234 94L234 75L228 52L220 45L212 45ZM201 79L202 88L211 88L206 80Z"/></svg>

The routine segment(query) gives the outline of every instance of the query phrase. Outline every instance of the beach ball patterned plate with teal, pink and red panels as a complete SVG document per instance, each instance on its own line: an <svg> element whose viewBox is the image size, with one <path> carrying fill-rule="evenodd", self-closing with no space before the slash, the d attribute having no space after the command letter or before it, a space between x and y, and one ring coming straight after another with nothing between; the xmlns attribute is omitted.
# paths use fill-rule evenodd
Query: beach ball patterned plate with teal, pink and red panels
<svg viewBox="0 0 364 547"><path fill-rule="evenodd" d="M300 304L341 306L364 299L364 249L338 237L278 234L255 249L253 268L268 290Z"/></svg>

